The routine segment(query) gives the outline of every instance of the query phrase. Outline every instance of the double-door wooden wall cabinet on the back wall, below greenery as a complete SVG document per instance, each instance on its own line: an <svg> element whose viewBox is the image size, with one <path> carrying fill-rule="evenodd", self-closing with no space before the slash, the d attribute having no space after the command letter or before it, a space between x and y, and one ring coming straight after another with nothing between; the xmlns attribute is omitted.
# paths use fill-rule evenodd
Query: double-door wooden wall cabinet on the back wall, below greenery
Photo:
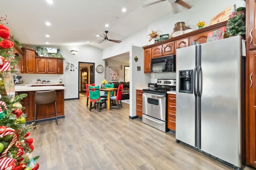
<svg viewBox="0 0 256 170"><path fill-rule="evenodd" d="M57 74L57 59L36 58L36 73Z"/></svg>

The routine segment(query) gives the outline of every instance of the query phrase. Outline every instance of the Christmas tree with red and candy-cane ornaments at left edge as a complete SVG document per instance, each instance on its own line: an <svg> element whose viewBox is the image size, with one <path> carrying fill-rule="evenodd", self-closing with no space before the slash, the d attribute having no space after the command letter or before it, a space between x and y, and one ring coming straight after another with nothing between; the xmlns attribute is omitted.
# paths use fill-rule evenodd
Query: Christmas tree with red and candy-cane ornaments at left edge
<svg viewBox="0 0 256 170"><path fill-rule="evenodd" d="M14 43L9 39L6 17L0 18L0 170L37 170L39 156L32 157L33 139L28 137L34 127L26 124L21 104L27 95L15 95L11 76L20 57L12 54Z"/></svg>

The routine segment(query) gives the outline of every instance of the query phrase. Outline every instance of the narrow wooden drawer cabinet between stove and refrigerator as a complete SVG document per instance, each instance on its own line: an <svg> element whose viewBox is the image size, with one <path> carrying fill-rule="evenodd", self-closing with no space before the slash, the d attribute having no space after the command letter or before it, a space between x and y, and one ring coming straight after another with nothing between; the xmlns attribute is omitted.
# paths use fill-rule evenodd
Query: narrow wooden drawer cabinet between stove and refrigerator
<svg viewBox="0 0 256 170"><path fill-rule="evenodd" d="M176 131L176 94L168 94L168 129Z"/></svg>

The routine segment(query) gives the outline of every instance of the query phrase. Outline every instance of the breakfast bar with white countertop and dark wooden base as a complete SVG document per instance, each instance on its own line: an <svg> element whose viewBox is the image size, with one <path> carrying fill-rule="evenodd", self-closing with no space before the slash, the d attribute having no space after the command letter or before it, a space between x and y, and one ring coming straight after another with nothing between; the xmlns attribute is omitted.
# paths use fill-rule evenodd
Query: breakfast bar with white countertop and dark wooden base
<svg viewBox="0 0 256 170"><path fill-rule="evenodd" d="M36 91L55 90L57 95L57 116L64 118L64 84L26 84L15 86L15 92L18 94L27 94L28 96L21 101L22 106L26 107L23 110L27 114L26 121L34 121L34 96ZM44 119L55 116L55 106L52 104L37 105L37 119Z"/></svg>

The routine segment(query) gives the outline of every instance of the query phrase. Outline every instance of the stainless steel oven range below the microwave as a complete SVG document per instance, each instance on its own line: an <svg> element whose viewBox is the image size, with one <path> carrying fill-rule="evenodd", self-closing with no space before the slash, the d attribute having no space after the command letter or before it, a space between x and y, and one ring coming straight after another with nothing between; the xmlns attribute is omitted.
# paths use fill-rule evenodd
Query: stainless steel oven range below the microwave
<svg viewBox="0 0 256 170"><path fill-rule="evenodd" d="M157 88L142 91L142 122L167 130L167 92L176 90L175 79L158 79Z"/></svg>

